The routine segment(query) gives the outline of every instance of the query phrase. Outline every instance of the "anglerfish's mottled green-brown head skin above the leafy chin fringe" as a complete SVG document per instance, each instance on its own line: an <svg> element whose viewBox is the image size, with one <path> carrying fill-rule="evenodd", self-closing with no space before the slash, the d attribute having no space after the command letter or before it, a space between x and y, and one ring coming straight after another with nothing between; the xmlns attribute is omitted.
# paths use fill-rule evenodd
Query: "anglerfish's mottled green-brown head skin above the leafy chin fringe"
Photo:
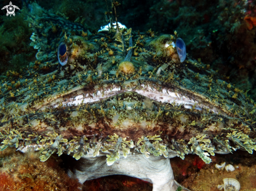
<svg viewBox="0 0 256 191"><path fill-rule="evenodd" d="M123 30L123 34L126 31ZM43 56L41 51L42 56L35 64L18 75L7 74L0 91L1 140L14 146L12 129L20 134L16 147L28 142L28 135L31 138L41 135L40 140L53 132L68 141L85 136L88 142L114 134L134 142L143 136L160 135L166 146L171 145L172 139L185 140L187 144L192 137L207 135L211 146L220 150L213 142L216 136L224 141L228 133L236 130L248 135L250 140L255 138L253 100L234 86L227 86L228 83L205 64L189 56L183 63L177 61L176 50L165 47L166 42L175 43L174 35L151 38L145 34L141 39L132 32L133 45L140 40L133 47L136 56L131 57L135 67L132 74L118 71L125 55L118 49L117 45L121 44L112 39L114 35L115 32L65 36L63 42L69 45L69 55L72 55L66 65L59 65L54 49L45 53L48 56ZM168 67L158 76L157 70L163 64ZM15 86L17 83L20 86ZM117 90L111 91L115 88ZM184 103L166 101L169 94L164 94L164 90L172 93L175 102L187 99L190 106L185 108ZM102 94L104 91L108 92ZM147 96L140 92L146 92ZM78 95L97 100L67 105ZM42 144L46 142L50 140ZM237 148L233 142L229 144Z"/></svg>

